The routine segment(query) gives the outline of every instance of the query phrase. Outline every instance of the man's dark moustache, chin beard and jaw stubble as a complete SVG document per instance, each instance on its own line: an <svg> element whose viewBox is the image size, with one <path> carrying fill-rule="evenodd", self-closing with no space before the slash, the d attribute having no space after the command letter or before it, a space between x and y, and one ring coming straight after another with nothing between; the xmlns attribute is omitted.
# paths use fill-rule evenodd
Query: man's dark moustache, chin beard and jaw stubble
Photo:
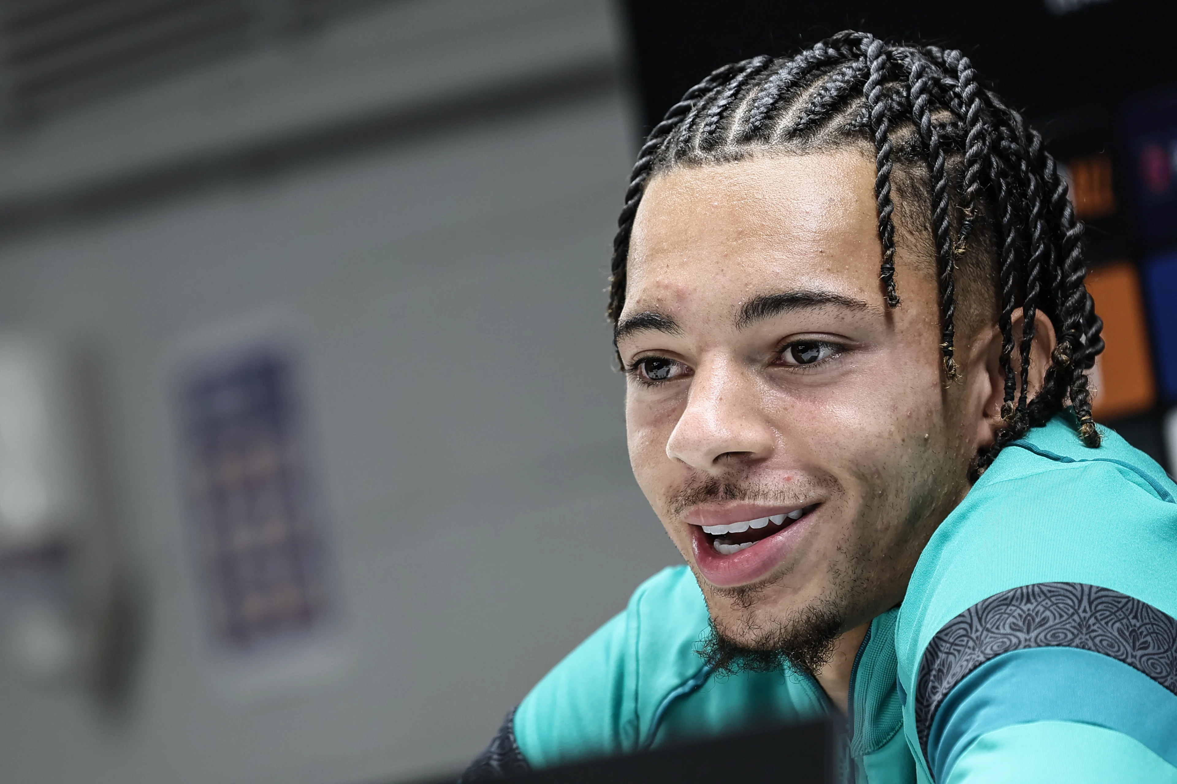
<svg viewBox="0 0 1177 784"><path fill-rule="evenodd" d="M865 504L852 512L853 522L833 545L825 562L824 585L802 604L769 607L773 589L797 579L789 568L760 583L720 588L710 584L684 554L707 602L709 629L698 650L712 666L726 672L792 668L816 675L829 663L842 634L903 599L927 538L959 502L959 491L967 490L967 484L945 485L944 454L926 450L923 438L909 443L918 447L889 461L890 470L882 475L867 463L859 469ZM849 501L834 475L811 476L804 482L782 489L750 481L743 473L696 478L669 498L665 508L673 518L681 518L687 509L706 502L799 507L824 498L823 504L832 507Z"/></svg>

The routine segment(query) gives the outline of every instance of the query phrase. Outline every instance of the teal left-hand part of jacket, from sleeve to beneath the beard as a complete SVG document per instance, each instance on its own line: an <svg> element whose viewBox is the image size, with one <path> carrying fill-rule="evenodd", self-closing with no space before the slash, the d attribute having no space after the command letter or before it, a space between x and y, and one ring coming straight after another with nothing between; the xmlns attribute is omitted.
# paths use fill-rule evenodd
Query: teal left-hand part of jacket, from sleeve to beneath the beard
<svg viewBox="0 0 1177 784"><path fill-rule="evenodd" d="M711 677L698 654L707 619L686 567L639 585L624 612L519 704L514 742L527 764L550 768L826 712L820 688L796 674Z"/></svg>

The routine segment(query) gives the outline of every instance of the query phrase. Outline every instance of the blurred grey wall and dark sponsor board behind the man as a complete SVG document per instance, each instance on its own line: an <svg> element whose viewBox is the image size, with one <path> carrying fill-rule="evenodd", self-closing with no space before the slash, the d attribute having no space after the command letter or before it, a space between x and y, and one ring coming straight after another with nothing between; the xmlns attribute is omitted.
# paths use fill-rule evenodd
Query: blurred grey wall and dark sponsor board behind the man
<svg viewBox="0 0 1177 784"><path fill-rule="evenodd" d="M459 770L657 569L604 319L632 155L845 27L969 53L1177 464L1177 7L0 0L0 778Z"/></svg>

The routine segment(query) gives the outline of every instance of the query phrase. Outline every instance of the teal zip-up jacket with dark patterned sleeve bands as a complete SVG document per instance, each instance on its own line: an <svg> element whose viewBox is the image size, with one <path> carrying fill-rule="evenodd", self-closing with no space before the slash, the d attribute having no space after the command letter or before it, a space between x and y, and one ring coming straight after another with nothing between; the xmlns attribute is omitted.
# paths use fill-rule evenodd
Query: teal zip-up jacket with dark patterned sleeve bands
<svg viewBox="0 0 1177 784"><path fill-rule="evenodd" d="M1032 430L937 529L855 661L846 780L1177 784L1177 487L1103 433ZM691 572L663 570L464 780L834 710L799 672L713 674L706 628Z"/></svg>

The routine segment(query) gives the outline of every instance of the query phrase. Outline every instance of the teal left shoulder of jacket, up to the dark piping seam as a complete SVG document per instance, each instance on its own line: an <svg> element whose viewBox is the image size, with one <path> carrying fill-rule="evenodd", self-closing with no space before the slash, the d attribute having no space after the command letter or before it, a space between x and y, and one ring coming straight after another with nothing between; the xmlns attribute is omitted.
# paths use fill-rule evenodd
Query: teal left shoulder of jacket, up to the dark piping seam
<svg viewBox="0 0 1177 784"><path fill-rule="evenodd" d="M623 612L557 664L516 711L528 763L634 751L666 696L699 675L707 607L685 565L641 583Z"/></svg>

